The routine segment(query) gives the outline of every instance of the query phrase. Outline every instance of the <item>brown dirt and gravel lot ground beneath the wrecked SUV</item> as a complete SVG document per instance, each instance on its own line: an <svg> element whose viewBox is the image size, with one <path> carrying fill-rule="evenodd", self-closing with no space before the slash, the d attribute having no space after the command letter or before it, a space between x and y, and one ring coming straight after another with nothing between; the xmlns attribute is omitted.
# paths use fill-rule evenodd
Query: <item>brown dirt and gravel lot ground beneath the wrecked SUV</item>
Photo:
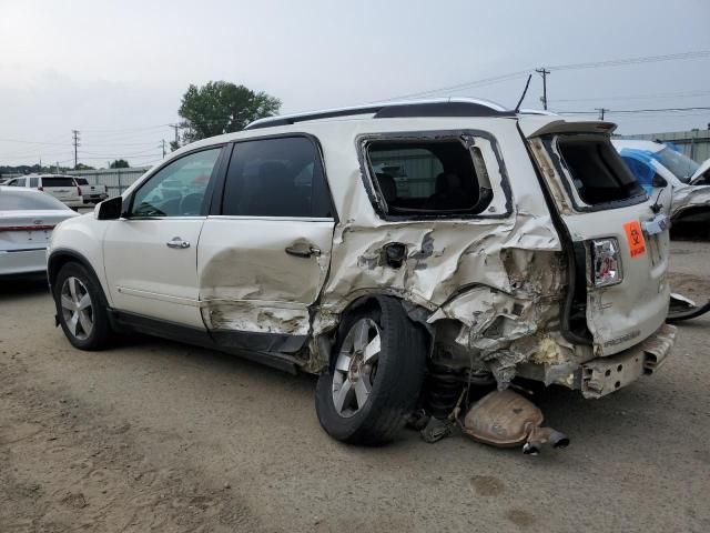
<svg viewBox="0 0 710 533"><path fill-rule="evenodd" d="M673 244L710 295L710 245ZM704 285L703 285L704 284ZM0 532L710 531L710 316L657 375L548 391L571 438L538 457L320 429L315 381L143 336L74 350L43 283L0 288Z"/></svg>

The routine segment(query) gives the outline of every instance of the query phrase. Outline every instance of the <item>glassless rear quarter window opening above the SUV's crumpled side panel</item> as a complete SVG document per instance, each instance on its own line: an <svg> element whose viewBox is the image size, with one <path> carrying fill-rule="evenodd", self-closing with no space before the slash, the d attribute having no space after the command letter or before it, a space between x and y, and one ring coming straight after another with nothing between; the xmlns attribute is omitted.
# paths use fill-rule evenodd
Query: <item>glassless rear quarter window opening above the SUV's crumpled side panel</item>
<svg viewBox="0 0 710 533"><path fill-rule="evenodd" d="M458 140L372 141L366 152L387 214L478 214L493 198L480 150Z"/></svg>

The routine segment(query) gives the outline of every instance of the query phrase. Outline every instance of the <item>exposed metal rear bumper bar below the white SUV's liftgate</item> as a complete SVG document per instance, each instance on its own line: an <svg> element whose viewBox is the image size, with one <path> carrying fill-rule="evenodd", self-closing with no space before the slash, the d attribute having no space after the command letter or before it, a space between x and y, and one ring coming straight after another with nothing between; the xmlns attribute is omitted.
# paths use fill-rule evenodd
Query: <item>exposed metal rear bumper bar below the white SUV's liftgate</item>
<svg viewBox="0 0 710 533"><path fill-rule="evenodd" d="M592 359L580 365L578 380L582 396L601 398L652 374L665 362L676 342L676 328L662 324L640 344L616 355Z"/></svg>

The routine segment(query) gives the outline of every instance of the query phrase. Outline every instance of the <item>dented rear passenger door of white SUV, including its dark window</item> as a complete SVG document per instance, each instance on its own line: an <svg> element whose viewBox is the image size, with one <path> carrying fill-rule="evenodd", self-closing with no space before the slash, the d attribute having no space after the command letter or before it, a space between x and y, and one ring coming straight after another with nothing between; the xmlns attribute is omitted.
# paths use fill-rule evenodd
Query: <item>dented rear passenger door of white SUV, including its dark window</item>
<svg viewBox="0 0 710 533"><path fill-rule="evenodd" d="M316 140L236 143L215 199L197 251L205 324L232 348L297 350L327 274L335 227Z"/></svg>

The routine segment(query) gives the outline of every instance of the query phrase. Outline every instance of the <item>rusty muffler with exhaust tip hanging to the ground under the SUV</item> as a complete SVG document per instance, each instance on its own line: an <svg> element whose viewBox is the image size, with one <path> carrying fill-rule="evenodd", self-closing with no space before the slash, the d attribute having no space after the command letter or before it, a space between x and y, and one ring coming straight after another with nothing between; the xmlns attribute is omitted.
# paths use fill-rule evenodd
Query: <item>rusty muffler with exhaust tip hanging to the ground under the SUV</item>
<svg viewBox="0 0 710 533"><path fill-rule="evenodd" d="M506 389L490 392L476 402L466 413L462 431L493 446L515 447L523 444L523 453L529 455L537 455L542 444L568 446L567 435L551 428L542 428L542 412L537 405Z"/></svg>

